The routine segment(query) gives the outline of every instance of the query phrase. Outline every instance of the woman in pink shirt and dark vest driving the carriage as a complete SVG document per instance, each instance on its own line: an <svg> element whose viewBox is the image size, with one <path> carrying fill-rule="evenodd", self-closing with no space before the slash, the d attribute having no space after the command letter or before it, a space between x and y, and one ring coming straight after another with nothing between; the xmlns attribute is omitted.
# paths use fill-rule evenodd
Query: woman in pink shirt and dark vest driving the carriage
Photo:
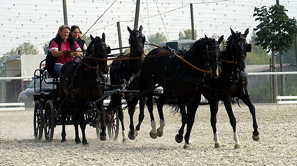
<svg viewBox="0 0 297 166"><path fill-rule="evenodd" d="M60 75L62 65L71 60L70 53L73 54L73 51L81 51L78 44L72 38L68 37L69 31L69 26L60 26L58 34L50 42L49 51L53 57L56 57L56 62L53 66L53 73L57 76Z"/></svg>

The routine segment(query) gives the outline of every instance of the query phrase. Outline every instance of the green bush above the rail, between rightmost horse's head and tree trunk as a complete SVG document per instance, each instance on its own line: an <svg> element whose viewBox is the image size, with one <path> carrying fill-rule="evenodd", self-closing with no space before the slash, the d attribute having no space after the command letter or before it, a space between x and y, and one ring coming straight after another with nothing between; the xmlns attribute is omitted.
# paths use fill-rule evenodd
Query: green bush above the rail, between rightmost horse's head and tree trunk
<svg viewBox="0 0 297 166"><path fill-rule="evenodd" d="M270 55L266 53L261 46L255 45L256 33L252 32L249 43L251 44L251 52L247 53L246 64L269 64Z"/></svg>

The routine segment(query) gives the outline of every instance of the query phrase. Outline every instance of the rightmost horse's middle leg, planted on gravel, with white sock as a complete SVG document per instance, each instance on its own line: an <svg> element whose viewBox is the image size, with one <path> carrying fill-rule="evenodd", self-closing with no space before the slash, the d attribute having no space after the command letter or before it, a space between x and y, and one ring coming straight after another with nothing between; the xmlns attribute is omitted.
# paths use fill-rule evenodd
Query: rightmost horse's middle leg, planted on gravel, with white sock
<svg viewBox="0 0 297 166"><path fill-rule="evenodd" d="M230 124L233 128L233 140L235 141L234 147L235 147L235 149L241 149L242 145L239 142L238 135L236 132L236 119L235 119L235 116L232 111L231 100L229 99L229 100L224 101L224 105L225 105L225 109L229 116Z"/></svg>

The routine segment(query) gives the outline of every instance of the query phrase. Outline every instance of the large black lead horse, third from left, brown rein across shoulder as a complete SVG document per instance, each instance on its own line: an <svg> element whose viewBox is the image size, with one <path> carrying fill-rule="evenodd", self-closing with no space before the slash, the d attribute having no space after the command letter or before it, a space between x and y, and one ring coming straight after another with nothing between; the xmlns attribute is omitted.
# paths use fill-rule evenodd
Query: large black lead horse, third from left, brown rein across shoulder
<svg viewBox="0 0 297 166"><path fill-rule="evenodd" d="M182 123L187 123L187 133L185 135L185 146L189 148L189 139L194 123L195 113L201 98L201 88L198 86L203 82L206 75L210 72L213 78L218 78L220 74L220 43L214 39L201 38L196 41L189 51L173 52L168 48L156 48L149 52L144 60L141 74L141 92L147 93L147 107L151 120L151 138L163 135L165 125L163 117L163 105L167 96L177 99L177 105L182 116ZM164 93L156 100L157 109L160 117L160 127L156 129L153 117L152 96L155 85L158 84L164 89ZM185 106L187 105L187 112ZM176 136L179 140L183 139L183 129Z"/></svg>

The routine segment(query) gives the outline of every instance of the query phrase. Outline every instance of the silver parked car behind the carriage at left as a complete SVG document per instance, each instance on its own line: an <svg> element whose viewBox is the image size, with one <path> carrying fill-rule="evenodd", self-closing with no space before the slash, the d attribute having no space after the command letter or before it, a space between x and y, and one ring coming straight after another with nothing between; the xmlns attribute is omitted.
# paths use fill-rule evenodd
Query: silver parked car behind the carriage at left
<svg viewBox="0 0 297 166"><path fill-rule="evenodd" d="M51 79L47 79L51 81ZM39 79L35 80L36 90L39 90ZM23 88L26 88L23 92L19 94L18 102L25 103L26 108L34 107L34 79L29 83L29 85L24 84ZM52 90L52 84L47 84L44 81L42 82L42 90Z"/></svg>

